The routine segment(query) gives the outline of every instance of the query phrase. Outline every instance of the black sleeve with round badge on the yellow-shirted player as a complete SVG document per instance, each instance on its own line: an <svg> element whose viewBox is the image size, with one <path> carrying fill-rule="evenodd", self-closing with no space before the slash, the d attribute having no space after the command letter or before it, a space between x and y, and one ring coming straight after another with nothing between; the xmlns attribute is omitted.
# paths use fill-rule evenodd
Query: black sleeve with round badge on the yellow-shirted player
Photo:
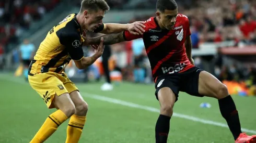
<svg viewBox="0 0 256 143"><path fill-rule="evenodd" d="M81 60L84 57L83 43L80 42L78 33L61 33L60 42L66 47L73 60Z"/></svg>

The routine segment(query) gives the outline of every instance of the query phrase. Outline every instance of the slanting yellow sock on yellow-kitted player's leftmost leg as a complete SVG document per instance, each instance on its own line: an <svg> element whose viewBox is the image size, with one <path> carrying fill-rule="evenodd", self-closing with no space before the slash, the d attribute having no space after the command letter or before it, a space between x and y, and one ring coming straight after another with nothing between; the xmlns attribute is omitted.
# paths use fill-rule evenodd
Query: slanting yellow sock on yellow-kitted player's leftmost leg
<svg viewBox="0 0 256 143"><path fill-rule="evenodd" d="M30 143L40 143L48 139L64 121L67 116L61 111L57 110L45 120L37 134L30 141Z"/></svg>

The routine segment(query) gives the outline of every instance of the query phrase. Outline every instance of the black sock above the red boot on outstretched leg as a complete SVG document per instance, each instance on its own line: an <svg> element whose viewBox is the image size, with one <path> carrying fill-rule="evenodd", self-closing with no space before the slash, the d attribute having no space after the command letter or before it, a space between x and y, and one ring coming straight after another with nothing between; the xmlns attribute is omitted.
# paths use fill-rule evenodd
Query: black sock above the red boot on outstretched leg
<svg viewBox="0 0 256 143"><path fill-rule="evenodd" d="M226 119L228 127L236 140L242 132L235 102L230 95L218 101L220 113Z"/></svg>

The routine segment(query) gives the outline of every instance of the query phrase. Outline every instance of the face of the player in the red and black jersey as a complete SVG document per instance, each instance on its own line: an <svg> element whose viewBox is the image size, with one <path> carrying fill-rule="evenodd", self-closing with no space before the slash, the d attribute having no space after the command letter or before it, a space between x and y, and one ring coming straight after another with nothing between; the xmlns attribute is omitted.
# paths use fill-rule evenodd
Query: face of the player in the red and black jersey
<svg viewBox="0 0 256 143"><path fill-rule="evenodd" d="M165 10L164 12L157 12L157 16L162 24L168 30L171 30L176 22L178 15L178 9L175 10Z"/></svg>

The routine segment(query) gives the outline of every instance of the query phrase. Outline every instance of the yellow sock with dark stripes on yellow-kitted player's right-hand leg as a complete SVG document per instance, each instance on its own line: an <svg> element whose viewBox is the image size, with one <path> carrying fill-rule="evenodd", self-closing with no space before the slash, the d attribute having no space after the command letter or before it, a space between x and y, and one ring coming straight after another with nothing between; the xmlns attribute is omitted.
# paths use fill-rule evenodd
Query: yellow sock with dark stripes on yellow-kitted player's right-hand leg
<svg viewBox="0 0 256 143"><path fill-rule="evenodd" d="M72 115L68 126L67 126L67 139L66 143L76 143L78 142L84 125L85 125L86 117L85 116L78 116Z"/></svg>

